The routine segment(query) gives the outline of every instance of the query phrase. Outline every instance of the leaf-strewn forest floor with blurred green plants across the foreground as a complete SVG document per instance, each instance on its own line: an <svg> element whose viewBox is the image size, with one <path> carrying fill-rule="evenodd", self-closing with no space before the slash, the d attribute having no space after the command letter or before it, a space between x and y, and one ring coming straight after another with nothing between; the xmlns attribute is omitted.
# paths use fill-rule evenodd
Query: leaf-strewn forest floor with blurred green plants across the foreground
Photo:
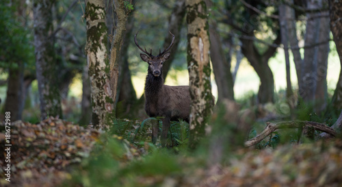
<svg viewBox="0 0 342 187"><path fill-rule="evenodd" d="M49 118L11 127L10 181L5 152L0 186L341 186L342 140L234 151L207 165L196 155L136 148L122 137ZM1 128L0 149L5 149ZM102 145L98 147L96 145ZM104 147L111 147L106 149ZM118 151L120 149L120 151ZM107 185L106 185L107 184Z"/></svg>

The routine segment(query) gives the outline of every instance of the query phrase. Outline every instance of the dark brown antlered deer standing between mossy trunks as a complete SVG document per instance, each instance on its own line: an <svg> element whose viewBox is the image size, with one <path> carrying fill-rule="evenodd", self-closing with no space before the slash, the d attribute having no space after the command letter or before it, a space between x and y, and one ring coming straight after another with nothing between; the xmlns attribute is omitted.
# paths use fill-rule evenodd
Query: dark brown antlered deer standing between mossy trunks
<svg viewBox="0 0 342 187"><path fill-rule="evenodd" d="M138 34L138 32L137 32ZM170 129L170 121L182 119L189 123L190 114L190 91L189 86L168 86L163 80L163 63L170 58L170 49L174 44L174 35L168 48L162 52L159 49L158 55L152 55L150 52L142 49L137 43L137 34L134 36L135 45L143 52L140 53L140 58L148 63L147 75L145 80L145 112L150 117L161 117L161 147L166 146L168 130ZM152 142L157 142L159 131L158 123L153 123L152 127Z"/></svg>

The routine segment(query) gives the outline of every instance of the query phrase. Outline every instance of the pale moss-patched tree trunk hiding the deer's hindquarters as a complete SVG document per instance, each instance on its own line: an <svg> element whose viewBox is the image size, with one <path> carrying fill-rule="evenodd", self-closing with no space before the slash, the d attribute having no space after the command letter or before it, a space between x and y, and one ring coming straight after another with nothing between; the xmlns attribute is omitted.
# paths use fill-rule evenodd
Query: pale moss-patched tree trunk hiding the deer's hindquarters
<svg viewBox="0 0 342 187"><path fill-rule="evenodd" d="M192 106L189 116L189 147L196 148L213 109L209 63L209 24L205 1L185 1L187 8L187 64Z"/></svg>

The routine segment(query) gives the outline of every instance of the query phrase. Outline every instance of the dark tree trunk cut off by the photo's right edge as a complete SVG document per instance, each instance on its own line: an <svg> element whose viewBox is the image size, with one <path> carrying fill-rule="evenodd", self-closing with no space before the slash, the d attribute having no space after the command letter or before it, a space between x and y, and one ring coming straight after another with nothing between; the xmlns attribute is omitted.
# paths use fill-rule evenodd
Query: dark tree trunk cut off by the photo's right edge
<svg viewBox="0 0 342 187"><path fill-rule="evenodd" d="M336 110L341 110L342 108L342 1L329 0L330 5L330 29L332 36L334 36L334 42L337 48L337 53L339 54L341 71L339 75L339 81L337 82L334 95L332 97L332 106ZM341 126L340 126L341 127ZM340 128L340 130L342 130Z"/></svg>

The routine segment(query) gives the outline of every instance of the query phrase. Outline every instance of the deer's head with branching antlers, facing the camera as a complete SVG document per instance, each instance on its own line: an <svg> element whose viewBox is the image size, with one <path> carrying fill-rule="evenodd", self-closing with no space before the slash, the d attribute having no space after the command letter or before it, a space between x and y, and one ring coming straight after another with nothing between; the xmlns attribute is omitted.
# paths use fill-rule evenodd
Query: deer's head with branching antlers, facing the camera
<svg viewBox="0 0 342 187"><path fill-rule="evenodd" d="M170 34L172 35L170 46L167 49L164 49L163 52L161 52L159 49L159 55L157 56L152 55L152 48L150 48L150 53L146 51L146 48L142 49L142 47L137 44L137 34L135 34L134 36L135 45L137 45L137 47L145 53L140 53L140 58L148 63L149 71L151 71L151 73L155 77L159 77L161 75L161 71L163 70L163 62L170 58L170 52L168 52L168 50L170 50L172 45L174 44L174 35L171 32Z"/></svg>

